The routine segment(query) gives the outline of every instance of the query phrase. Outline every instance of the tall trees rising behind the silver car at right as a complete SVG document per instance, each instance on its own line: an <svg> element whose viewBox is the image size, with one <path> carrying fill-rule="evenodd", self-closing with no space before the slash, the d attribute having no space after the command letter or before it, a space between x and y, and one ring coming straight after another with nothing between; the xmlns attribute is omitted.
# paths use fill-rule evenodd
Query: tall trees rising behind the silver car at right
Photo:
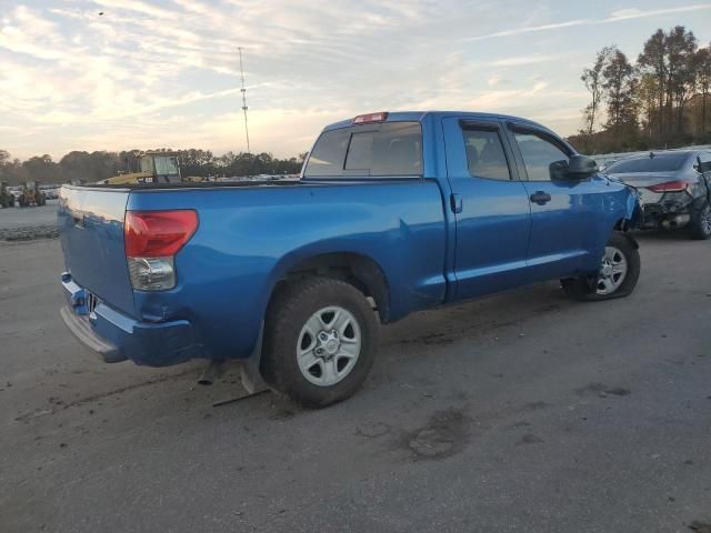
<svg viewBox="0 0 711 533"><path fill-rule="evenodd" d="M589 103L569 140L585 153L711 143L711 44L683 26L657 30L634 63L604 47L580 79Z"/></svg>

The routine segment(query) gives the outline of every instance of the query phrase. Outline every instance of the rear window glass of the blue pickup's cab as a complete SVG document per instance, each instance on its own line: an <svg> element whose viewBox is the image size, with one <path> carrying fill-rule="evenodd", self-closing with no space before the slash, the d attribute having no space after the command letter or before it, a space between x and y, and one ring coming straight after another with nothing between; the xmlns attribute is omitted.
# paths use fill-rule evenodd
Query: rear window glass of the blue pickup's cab
<svg viewBox="0 0 711 533"><path fill-rule="evenodd" d="M385 122L326 131L313 147L303 175L422 175L422 128L419 122Z"/></svg>

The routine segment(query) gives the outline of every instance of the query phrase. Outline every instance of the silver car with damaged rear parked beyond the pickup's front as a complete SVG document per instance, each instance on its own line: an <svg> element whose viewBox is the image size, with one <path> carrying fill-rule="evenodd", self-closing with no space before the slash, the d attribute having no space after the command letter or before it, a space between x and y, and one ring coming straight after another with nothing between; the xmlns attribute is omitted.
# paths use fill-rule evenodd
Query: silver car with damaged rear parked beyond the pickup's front
<svg viewBox="0 0 711 533"><path fill-rule="evenodd" d="M642 228L684 228L693 239L711 238L710 151L632 155L612 163L604 173L639 191Z"/></svg>

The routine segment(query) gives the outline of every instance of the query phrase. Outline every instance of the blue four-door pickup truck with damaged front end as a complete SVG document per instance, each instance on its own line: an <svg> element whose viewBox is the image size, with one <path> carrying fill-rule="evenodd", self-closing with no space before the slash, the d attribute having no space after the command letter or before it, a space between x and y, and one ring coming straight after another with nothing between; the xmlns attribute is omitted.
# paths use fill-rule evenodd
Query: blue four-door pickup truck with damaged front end
<svg viewBox="0 0 711 533"><path fill-rule="evenodd" d="M549 280L632 292L633 189L529 120L359 115L299 181L64 185L62 319L107 362L239 360L307 406L359 388L379 324Z"/></svg>

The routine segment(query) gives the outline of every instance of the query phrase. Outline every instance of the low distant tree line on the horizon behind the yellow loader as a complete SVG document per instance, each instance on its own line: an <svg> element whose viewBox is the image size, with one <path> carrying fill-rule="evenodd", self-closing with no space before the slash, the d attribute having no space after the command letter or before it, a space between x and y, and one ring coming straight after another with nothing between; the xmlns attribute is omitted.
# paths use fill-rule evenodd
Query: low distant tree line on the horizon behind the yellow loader
<svg viewBox="0 0 711 533"><path fill-rule="evenodd" d="M0 181L20 184L24 181L42 183L68 183L81 180L92 183L118 175L119 173L138 172L140 170L140 150L121 152L83 152L72 151L59 161L49 154L34 155L26 161L12 159L6 150L0 150ZM306 152L289 159L274 158L271 153L250 154L246 152L227 152L214 155L210 150L178 150L180 171L189 175L257 175L257 174L296 174L301 170Z"/></svg>

